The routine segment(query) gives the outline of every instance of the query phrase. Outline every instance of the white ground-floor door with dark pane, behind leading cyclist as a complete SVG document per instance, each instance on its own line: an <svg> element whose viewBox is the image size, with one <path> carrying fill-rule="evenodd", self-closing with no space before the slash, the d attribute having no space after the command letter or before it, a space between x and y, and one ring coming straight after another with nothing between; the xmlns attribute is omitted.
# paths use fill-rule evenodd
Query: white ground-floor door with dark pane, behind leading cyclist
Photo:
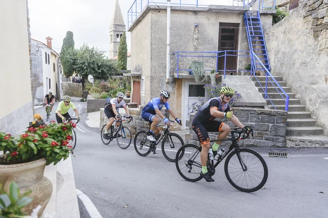
<svg viewBox="0 0 328 218"><path fill-rule="evenodd" d="M185 108L185 116L184 116L184 120L188 120L189 119L189 114L190 113L195 113L196 111L192 111L192 104L195 103L196 105L200 105L200 101L199 99L203 99L205 102L207 100L207 91L204 88L204 85L206 83L196 83L196 82L186 82L185 85L185 99L186 99L186 103L187 103L187 107ZM186 129L188 129L189 127L187 127L185 125L186 123L184 123L184 126Z"/></svg>

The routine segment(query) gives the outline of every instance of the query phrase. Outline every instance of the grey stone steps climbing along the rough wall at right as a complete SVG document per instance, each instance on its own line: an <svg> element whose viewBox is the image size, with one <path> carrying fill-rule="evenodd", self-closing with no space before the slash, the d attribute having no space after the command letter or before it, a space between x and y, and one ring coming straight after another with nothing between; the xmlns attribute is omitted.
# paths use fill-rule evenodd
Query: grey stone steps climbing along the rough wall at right
<svg viewBox="0 0 328 218"><path fill-rule="evenodd" d="M265 76L256 76L256 78L252 76L251 80L264 98L265 94L260 86L265 89ZM291 92L290 87L287 87L282 76L275 76L274 78L289 96L287 147L328 147L328 137L323 135L324 130L322 128L316 126L317 120L312 119L311 113L305 111L305 106L301 105L300 100L295 98L295 94ZM285 101L271 82L268 82L267 93L276 109L285 109ZM267 107L274 109L270 100L266 100Z"/></svg>

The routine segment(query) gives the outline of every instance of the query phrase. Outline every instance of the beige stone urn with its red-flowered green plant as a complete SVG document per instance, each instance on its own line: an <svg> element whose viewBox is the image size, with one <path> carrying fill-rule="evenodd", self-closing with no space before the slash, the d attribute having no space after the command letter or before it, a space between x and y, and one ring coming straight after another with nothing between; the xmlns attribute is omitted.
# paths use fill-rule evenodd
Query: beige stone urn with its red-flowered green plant
<svg viewBox="0 0 328 218"><path fill-rule="evenodd" d="M33 201L22 211L31 214L40 205L40 217L52 194L52 184L43 176L44 168L73 154L69 140L76 124L50 121L47 125L40 114L33 117L24 134L12 137L0 132L0 151L3 151L0 156L0 183L6 192L12 181L17 182L21 193L31 190L28 196Z"/></svg>

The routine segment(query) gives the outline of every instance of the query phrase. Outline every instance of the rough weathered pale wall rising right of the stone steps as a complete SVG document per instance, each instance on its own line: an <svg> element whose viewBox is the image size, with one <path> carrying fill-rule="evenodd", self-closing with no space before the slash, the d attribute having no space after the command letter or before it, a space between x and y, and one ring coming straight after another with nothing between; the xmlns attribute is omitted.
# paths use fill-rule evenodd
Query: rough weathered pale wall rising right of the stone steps
<svg viewBox="0 0 328 218"><path fill-rule="evenodd" d="M284 77L327 135L328 1L309 2L273 25L265 41L271 72Z"/></svg>

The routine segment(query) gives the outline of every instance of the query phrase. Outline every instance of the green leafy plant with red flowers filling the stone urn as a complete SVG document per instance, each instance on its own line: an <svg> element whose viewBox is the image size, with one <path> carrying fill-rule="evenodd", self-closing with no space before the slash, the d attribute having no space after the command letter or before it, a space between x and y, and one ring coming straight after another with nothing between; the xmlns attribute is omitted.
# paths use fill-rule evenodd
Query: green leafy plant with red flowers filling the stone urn
<svg viewBox="0 0 328 218"><path fill-rule="evenodd" d="M40 114L35 114L34 119L22 135L11 137L0 132L0 151L4 154L0 164L27 163L44 158L47 165L56 165L69 157L72 153L69 140L76 124L50 121L47 125Z"/></svg>

